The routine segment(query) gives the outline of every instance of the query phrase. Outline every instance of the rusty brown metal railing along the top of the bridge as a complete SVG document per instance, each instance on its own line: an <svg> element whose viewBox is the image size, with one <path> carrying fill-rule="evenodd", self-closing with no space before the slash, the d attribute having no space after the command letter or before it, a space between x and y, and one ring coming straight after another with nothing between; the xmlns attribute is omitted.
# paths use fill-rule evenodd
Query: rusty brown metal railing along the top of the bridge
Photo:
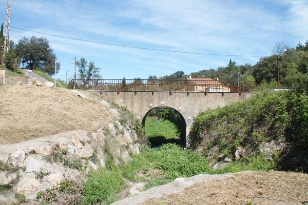
<svg viewBox="0 0 308 205"><path fill-rule="evenodd" d="M152 92L255 92L258 85L251 80L202 79L72 79L69 89L95 91L152 91Z"/></svg>

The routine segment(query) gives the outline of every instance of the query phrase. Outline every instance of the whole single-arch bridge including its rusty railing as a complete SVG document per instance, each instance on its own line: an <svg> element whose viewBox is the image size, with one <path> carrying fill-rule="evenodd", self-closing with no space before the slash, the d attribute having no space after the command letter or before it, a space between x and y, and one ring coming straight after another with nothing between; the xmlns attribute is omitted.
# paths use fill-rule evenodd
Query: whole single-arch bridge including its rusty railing
<svg viewBox="0 0 308 205"><path fill-rule="evenodd" d="M257 90L257 85L255 81L191 78L190 75L180 80L72 79L69 88L93 91L109 102L127 107L143 125L152 109L175 109L183 121L181 138L189 146L188 133L200 111L248 98Z"/></svg>

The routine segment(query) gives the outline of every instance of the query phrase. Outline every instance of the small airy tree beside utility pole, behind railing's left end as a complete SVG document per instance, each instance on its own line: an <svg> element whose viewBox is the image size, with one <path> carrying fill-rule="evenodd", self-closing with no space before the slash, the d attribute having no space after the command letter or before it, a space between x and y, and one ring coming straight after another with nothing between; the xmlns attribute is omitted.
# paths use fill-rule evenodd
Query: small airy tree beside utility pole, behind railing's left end
<svg viewBox="0 0 308 205"><path fill-rule="evenodd" d="M76 66L78 67L78 72L79 72L78 76L83 81L83 86L89 84L93 75L94 78L101 78L100 68L96 67L93 61L90 61L90 63L88 63L86 58L82 57L80 58L80 60L76 61Z"/></svg>

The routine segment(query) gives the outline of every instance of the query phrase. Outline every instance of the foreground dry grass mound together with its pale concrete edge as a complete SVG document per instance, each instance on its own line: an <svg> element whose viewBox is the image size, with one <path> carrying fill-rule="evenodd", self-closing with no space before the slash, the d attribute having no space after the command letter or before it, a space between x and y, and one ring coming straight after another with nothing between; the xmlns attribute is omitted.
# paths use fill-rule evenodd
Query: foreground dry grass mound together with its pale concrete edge
<svg viewBox="0 0 308 205"><path fill-rule="evenodd" d="M196 175L112 204L308 204L308 175L276 171Z"/></svg>

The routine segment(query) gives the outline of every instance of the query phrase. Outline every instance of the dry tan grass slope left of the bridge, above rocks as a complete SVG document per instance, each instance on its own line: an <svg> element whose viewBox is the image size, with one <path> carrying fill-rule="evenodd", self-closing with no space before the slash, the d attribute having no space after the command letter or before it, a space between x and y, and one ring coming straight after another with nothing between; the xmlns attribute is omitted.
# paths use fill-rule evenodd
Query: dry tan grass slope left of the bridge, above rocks
<svg viewBox="0 0 308 205"><path fill-rule="evenodd" d="M0 145L77 129L95 131L116 115L109 108L62 88L2 86Z"/></svg>

